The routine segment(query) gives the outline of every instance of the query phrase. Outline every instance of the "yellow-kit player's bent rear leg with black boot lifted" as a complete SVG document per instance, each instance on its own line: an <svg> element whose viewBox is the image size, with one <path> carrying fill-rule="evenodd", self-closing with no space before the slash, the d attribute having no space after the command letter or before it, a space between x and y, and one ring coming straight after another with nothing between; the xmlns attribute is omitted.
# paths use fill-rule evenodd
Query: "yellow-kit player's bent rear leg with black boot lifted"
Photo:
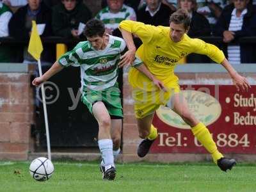
<svg viewBox="0 0 256 192"><path fill-rule="evenodd" d="M153 117L154 113L143 118L137 118L139 136L143 139L138 146L137 154L139 157L144 157L148 154L151 145L157 138L157 129L152 125Z"/></svg>

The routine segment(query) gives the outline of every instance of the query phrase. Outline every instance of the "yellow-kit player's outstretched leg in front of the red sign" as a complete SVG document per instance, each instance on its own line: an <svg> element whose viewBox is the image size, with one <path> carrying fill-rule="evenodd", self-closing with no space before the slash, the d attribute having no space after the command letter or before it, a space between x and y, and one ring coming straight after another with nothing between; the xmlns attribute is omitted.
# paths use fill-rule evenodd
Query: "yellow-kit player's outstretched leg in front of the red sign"
<svg viewBox="0 0 256 192"><path fill-rule="evenodd" d="M173 111L180 115L184 122L191 126L191 131L193 132L194 136L211 154L214 163L218 164L221 170L231 170L232 166L236 164L236 161L234 159L224 158L223 155L218 151L216 143L212 139L209 130L189 111L188 103L181 93L173 94L172 104Z"/></svg>

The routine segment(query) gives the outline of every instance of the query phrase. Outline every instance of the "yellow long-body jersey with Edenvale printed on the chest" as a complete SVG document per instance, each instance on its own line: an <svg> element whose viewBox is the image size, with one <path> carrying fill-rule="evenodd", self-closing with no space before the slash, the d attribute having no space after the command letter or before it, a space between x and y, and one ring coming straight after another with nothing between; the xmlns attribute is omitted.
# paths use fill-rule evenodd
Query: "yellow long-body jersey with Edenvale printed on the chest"
<svg viewBox="0 0 256 192"><path fill-rule="evenodd" d="M216 63L221 63L225 58L223 52L215 45L207 44L198 38L189 38L186 34L180 42L173 42L169 27L123 20L120 22L120 28L139 36L143 44L136 51L136 55L167 88L178 84L179 79L174 74L174 68L178 61L188 54L192 52L204 54ZM136 68L131 68L129 71L129 83L134 88L145 91L157 89L151 80Z"/></svg>

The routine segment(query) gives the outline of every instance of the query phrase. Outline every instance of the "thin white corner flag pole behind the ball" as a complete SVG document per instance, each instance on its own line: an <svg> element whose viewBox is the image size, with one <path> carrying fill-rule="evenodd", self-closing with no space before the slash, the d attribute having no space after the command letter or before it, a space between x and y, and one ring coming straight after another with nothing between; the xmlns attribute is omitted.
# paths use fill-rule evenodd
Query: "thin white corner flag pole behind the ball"
<svg viewBox="0 0 256 192"><path fill-rule="evenodd" d="M39 76L41 77L42 76L42 67L41 67L40 59L38 60L38 69L39 69ZM43 106L44 106L44 122L45 122L45 133L46 133L46 141L47 141L47 154L48 154L48 159L51 161L51 145L50 145L47 108L46 108L46 102L45 102L44 83L42 83L41 92L42 92L42 99L43 99Z"/></svg>

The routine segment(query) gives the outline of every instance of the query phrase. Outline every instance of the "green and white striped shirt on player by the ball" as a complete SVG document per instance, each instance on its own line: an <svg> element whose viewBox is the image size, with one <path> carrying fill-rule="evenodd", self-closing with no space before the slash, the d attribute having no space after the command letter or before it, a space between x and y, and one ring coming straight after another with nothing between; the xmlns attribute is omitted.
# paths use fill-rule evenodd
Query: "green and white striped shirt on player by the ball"
<svg viewBox="0 0 256 192"><path fill-rule="evenodd" d="M124 49L125 42L122 38L109 35L109 42L104 50L93 49L88 41L79 42L72 51L63 54L58 62L63 67L81 67L81 91L84 88L99 91L115 85L118 77L117 64ZM134 66L141 63L137 58Z"/></svg>

